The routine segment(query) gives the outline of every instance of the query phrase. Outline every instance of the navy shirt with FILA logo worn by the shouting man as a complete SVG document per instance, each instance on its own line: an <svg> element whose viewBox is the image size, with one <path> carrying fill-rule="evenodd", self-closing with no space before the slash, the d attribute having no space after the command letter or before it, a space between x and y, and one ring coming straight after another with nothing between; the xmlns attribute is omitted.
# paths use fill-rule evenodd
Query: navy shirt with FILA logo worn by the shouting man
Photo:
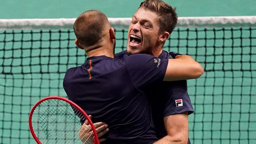
<svg viewBox="0 0 256 144"><path fill-rule="evenodd" d="M115 54L115 58L122 58L128 54L127 51L122 51ZM171 55L167 51L163 51L160 59L171 59ZM187 92L187 81L160 82L157 86L151 86L146 90L149 103L152 108L152 117L155 126L157 138L162 138L167 135L163 118L168 115L188 112L194 112L191 100ZM188 140L188 144L190 141Z"/></svg>

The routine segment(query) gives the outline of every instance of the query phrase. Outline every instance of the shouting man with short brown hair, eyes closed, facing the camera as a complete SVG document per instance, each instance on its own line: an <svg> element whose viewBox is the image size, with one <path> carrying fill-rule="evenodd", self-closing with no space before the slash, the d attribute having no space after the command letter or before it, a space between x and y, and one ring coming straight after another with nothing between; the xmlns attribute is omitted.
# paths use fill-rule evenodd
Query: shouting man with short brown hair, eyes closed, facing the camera
<svg viewBox="0 0 256 144"><path fill-rule="evenodd" d="M151 54L158 58L180 57L177 53L163 50L165 40L177 24L175 10L161 0L143 1L129 25L127 51L115 54L115 58L136 53ZM159 139L164 137L157 143L190 144L188 115L194 110L187 93L186 80L161 82L157 87L158 90L154 86L147 89L156 136Z"/></svg>

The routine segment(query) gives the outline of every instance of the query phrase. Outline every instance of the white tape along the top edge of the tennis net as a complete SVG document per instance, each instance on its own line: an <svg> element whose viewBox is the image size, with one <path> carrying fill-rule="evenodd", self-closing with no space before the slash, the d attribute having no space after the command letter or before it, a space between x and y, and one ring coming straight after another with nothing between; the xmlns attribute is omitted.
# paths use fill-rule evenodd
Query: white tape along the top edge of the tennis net
<svg viewBox="0 0 256 144"><path fill-rule="evenodd" d="M76 18L59 19L0 19L1 30L73 29ZM127 29L131 18L109 18L115 29ZM255 27L256 16L179 17L177 28Z"/></svg>

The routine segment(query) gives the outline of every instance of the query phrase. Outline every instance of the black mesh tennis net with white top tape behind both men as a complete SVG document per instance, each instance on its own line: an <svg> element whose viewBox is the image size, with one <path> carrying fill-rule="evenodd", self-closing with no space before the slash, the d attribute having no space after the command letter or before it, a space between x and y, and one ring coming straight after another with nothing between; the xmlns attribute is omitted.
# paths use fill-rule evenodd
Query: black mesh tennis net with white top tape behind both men
<svg viewBox="0 0 256 144"><path fill-rule="evenodd" d="M109 20L123 51L131 19ZM74 21L0 19L1 144L35 144L30 109L43 97L66 97L66 70L86 59L74 44ZM188 54L205 70L188 80L191 142L256 143L256 16L181 17L164 50Z"/></svg>

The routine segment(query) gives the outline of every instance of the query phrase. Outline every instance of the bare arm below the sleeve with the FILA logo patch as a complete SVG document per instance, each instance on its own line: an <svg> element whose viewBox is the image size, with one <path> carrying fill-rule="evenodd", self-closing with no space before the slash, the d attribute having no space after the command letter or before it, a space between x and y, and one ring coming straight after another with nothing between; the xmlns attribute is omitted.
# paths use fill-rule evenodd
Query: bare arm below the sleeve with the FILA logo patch
<svg viewBox="0 0 256 144"><path fill-rule="evenodd" d="M167 136L153 144L187 144L188 142L188 112L164 117Z"/></svg>

